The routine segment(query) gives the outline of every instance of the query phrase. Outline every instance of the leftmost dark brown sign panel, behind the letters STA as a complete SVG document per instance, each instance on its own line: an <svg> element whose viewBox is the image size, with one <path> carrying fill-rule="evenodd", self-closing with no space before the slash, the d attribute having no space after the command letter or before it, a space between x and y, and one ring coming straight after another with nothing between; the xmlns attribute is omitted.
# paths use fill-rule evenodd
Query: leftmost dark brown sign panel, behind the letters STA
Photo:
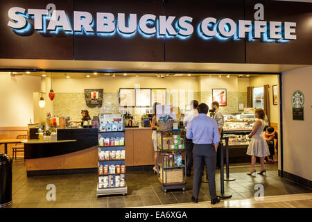
<svg viewBox="0 0 312 222"><path fill-rule="evenodd" d="M53 3L51 5L50 3ZM50 4L50 6L49 6ZM49 7L47 7L49 6ZM8 22L15 23L9 19L8 12L10 8L20 8L13 11L12 14L19 15L17 19L19 24L24 26L21 28L10 28ZM24 58L24 59L56 59L56 60L72 60L73 59L73 35L60 31L58 27L52 33L46 28L49 25L48 19L42 19L42 30L35 31L33 15L30 15L29 9L47 9L66 10L68 19L72 22L73 1L72 0L10 0L0 1L0 31L1 31L1 50L0 58ZM24 14L21 11L24 10ZM23 14L23 15L22 15ZM24 19L23 19L24 18Z"/></svg>

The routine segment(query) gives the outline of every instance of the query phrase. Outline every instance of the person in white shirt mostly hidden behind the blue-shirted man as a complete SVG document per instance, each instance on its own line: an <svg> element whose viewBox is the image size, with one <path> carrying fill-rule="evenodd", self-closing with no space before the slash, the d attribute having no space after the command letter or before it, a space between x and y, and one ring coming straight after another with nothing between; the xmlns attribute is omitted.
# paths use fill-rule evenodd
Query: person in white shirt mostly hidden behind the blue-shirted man
<svg viewBox="0 0 312 222"><path fill-rule="evenodd" d="M189 111L183 119L183 125L187 129L187 124L194 118L198 116L198 101L191 101L191 111ZM193 140L186 139L187 145L187 176L191 176L192 166L193 166Z"/></svg>

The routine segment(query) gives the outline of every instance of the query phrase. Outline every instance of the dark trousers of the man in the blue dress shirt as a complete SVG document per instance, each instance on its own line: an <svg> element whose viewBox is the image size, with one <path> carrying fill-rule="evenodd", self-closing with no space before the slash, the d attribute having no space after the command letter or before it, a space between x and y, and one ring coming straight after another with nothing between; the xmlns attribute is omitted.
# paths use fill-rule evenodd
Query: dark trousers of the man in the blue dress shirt
<svg viewBox="0 0 312 222"><path fill-rule="evenodd" d="M198 198L202 180L203 164L206 164L206 173L209 182L211 200L216 198L216 150L213 144L194 144L193 146L193 197Z"/></svg>

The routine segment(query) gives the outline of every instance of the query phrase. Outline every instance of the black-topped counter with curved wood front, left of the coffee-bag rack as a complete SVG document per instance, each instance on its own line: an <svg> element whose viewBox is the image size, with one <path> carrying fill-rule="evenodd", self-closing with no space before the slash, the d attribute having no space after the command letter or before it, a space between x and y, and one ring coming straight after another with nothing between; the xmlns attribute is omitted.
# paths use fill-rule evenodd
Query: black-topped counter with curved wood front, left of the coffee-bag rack
<svg viewBox="0 0 312 222"><path fill-rule="evenodd" d="M92 173L98 167L98 130L58 130L56 141L24 141L27 176Z"/></svg>

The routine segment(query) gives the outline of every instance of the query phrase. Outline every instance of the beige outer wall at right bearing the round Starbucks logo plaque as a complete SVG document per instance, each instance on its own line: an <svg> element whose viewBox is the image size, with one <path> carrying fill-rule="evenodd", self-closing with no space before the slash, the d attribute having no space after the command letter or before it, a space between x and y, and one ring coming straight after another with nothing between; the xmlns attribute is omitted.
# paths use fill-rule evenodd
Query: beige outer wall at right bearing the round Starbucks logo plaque
<svg viewBox="0 0 312 222"><path fill-rule="evenodd" d="M282 74L284 171L312 180L312 66ZM291 96L304 94L304 121L294 121Z"/></svg>

